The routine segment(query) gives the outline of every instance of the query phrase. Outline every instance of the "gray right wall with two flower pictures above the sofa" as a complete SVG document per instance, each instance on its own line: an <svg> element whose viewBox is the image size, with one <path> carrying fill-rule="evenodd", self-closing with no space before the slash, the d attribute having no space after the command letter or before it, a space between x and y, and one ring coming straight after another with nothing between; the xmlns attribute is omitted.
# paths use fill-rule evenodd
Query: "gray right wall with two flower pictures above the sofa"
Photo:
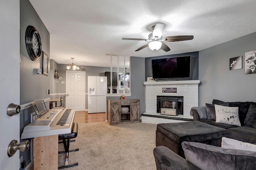
<svg viewBox="0 0 256 170"><path fill-rule="evenodd" d="M245 74L244 53L256 50L256 32L199 51L199 106L222 101L256 101L256 74ZM243 56L242 69L229 70L229 59Z"/></svg>

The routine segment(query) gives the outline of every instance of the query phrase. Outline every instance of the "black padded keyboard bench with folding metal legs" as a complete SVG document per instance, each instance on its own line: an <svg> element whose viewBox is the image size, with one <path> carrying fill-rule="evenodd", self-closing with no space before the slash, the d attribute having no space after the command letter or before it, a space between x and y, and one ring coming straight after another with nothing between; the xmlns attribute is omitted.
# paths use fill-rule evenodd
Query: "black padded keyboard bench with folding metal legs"
<svg viewBox="0 0 256 170"><path fill-rule="evenodd" d="M60 167L58 167L58 169L68 168L68 167L72 167L72 166L78 166L78 163L68 165L68 153L79 150L79 149L69 150L70 139L76 138L77 133L78 133L78 123L73 123L72 128L71 128L71 133L59 134L59 140L63 141L63 145L65 148L65 151L61 151L61 152L59 152L59 154L66 153L66 158L65 158L65 166L60 166ZM61 142L59 142L59 143L61 143Z"/></svg>

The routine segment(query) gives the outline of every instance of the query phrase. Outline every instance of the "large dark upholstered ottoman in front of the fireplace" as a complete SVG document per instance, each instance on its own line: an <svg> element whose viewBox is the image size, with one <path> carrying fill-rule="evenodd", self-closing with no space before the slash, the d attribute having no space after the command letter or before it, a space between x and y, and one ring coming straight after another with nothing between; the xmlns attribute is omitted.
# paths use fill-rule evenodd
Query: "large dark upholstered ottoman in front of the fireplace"
<svg viewBox="0 0 256 170"><path fill-rule="evenodd" d="M181 143L200 142L221 146L222 137L227 131L199 121L182 123L160 123L156 126L156 146L166 146L176 154L185 158Z"/></svg>

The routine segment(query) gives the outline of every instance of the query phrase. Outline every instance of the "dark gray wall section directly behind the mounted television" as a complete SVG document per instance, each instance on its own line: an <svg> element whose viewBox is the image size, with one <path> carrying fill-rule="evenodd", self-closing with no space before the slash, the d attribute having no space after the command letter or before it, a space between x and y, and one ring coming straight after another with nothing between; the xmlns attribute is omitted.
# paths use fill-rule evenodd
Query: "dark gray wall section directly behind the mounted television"
<svg viewBox="0 0 256 170"><path fill-rule="evenodd" d="M169 58L169 57L181 57L191 55L191 68L190 68L190 78L186 80L198 80L198 51L190 52L190 53L181 53L181 54L173 54L173 55L163 55L157 57L147 57L145 59L145 81L147 81L147 77L152 77L152 67L151 60L152 59L160 59L160 58ZM184 79L178 79L184 80Z"/></svg>

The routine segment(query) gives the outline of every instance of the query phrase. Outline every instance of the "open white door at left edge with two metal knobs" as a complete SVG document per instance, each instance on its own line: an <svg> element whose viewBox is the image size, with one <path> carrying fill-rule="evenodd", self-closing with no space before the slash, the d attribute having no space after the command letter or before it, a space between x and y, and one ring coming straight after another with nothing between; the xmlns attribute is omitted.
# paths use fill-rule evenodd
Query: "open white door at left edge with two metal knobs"
<svg viewBox="0 0 256 170"><path fill-rule="evenodd" d="M0 16L0 169L18 170L20 150L9 158L7 148L14 139L20 143L20 115L8 116L7 107L20 104L20 2L1 1Z"/></svg>

